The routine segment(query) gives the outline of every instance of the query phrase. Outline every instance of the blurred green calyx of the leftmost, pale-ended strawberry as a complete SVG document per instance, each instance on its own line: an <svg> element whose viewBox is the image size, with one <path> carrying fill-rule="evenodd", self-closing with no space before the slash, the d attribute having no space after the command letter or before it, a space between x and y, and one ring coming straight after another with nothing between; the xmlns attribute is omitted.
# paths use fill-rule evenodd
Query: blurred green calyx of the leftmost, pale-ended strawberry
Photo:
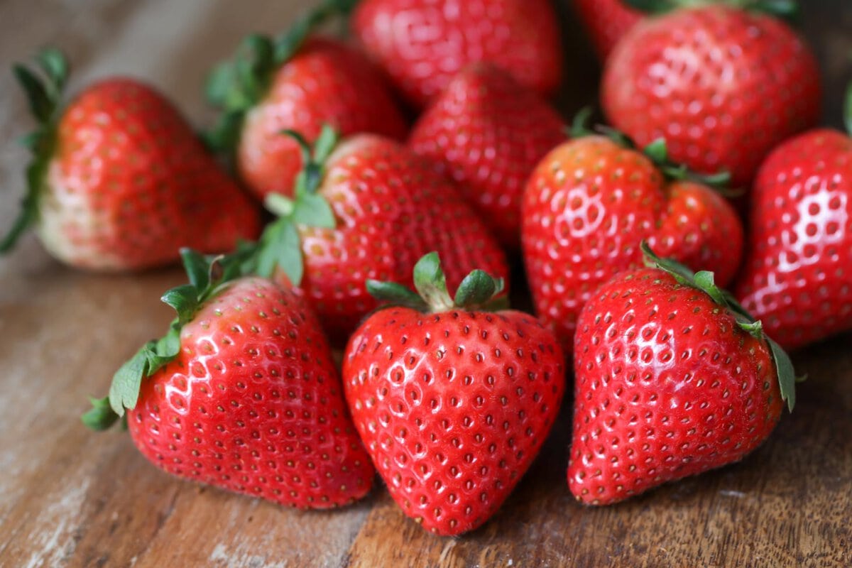
<svg viewBox="0 0 852 568"><path fill-rule="evenodd" d="M62 91L70 70L66 56L59 49L46 48L36 55L36 66L18 63L12 67L12 72L26 93L38 125L20 139L20 143L32 152L26 166L26 193L12 228L0 238L0 254L12 250L26 229L38 221L38 203L47 184L48 166L56 146Z"/></svg>

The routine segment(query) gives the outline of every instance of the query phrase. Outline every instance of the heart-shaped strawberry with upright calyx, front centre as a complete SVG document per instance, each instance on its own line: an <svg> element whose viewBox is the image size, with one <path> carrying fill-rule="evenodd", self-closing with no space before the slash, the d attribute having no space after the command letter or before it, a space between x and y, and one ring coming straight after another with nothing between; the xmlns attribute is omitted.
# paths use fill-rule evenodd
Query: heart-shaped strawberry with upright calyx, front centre
<svg viewBox="0 0 852 568"><path fill-rule="evenodd" d="M500 282L470 273L455 299L438 255L414 267L418 296L360 326L343 358L355 427L403 511L440 535L484 523L527 471L565 388L556 337L525 313L482 307Z"/></svg>

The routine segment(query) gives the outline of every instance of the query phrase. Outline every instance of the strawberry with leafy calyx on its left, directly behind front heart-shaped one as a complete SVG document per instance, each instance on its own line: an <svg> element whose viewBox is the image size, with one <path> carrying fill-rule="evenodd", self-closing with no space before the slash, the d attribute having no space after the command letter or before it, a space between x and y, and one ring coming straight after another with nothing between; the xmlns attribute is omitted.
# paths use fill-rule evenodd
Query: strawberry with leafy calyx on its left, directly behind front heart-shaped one
<svg viewBox="0 0 852 568"><path fill-rule="evenodd" d="M295 135L295 133L291 133ZM411 283L412 267L437 250L455 286L472 267L508 275L505 256L473 209L431 164L377 135L336 149L325 129L296 182L296 198L270 196L281 217L256 246L256 271L304 290L334 339L348 337L376 307L367 278ZM332 152L333 150L333 152Z"/></svg>

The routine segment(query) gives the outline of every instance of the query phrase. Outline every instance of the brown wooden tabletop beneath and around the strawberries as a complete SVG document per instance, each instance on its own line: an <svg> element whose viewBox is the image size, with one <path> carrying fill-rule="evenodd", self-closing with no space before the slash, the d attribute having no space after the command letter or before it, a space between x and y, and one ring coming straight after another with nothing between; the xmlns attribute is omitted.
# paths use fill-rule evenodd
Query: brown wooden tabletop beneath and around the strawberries
<svg viewBox="0 0 852 568"><path fill-rule="evenodd" d="M308 0L130 3L3 0L0 67L39 45L66 49L72 88L112 72L146 77L203 121L204 72L245 32L285 28ZM804 26L839 123L852 9L807 2ZM250 8L247 8L250 6ZM843 8L842 8L843 7ZM567 10L565 11L567 14ZM596 63L567 22L570 115L594 100ZM585 88L583 88L585 86ZM31 126L0 76L0 227L22 191ZM27 237L0 260L0 565L2 566L849 566L852 565L852 336L796 353L810 376L792 416L740 464L609 508L567 491L570 410L517 491L479 531L431 536L383 489L354 507L302 513L160 473L118 430L78 421L88 394L170 319L172 269L98 276L61 267Z"/></svg>

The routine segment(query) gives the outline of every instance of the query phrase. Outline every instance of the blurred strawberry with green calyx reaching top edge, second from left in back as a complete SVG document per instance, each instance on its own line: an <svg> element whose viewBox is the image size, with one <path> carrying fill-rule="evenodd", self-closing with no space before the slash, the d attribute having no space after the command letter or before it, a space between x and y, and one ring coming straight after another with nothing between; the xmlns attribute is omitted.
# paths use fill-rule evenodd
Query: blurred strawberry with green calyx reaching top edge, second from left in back
<svg viewBox="0 0 852 568"><path fill-rule="evenodd" d="M211 146L233 152L240 178L259 198L291 195L302 169L298 144L282 130L296 130L310 142L325 123L343 135L406 135L377 67L346 43L308 36L336 14L337 3L326 1L278 40L248 37L236 60L210 76L208 98L222 109ZM241 71L246 68L250 72Z"/></svg>

